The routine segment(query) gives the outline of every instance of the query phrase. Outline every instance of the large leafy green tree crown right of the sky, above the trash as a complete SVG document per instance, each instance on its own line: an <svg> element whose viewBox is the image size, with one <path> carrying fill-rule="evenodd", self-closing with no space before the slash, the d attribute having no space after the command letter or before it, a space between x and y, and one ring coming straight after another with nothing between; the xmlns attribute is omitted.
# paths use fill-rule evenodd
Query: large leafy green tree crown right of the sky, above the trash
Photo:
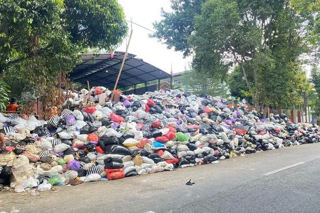
<svg viewBox="0 0 320 213"><path fill-rule="evenodd" d="M307 21L287 0L207 0L189 36L193 67L223 78L238 64L256 109L280 105L287 99L291 64L307 51Z"/></svg>

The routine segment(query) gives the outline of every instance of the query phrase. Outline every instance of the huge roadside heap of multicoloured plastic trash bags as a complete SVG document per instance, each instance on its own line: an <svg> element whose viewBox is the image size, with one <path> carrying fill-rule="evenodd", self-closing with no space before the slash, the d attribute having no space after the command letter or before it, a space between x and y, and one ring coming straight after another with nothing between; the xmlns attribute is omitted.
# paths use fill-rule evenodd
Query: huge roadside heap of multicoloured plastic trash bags
<svg viewBox="0 0 320 213"><path fill-rule="evenodd" d="M97 103L110 93L103 87L74 92L64 104L72 110L48 121L0 114L6 140L0 184L15 192L43 191L217 163L320 139L318 126L293 124L284 114L263 118L242 103L235 111L230 100L179 90L121 95L121 102L78 110L83 95Z"/></svg>

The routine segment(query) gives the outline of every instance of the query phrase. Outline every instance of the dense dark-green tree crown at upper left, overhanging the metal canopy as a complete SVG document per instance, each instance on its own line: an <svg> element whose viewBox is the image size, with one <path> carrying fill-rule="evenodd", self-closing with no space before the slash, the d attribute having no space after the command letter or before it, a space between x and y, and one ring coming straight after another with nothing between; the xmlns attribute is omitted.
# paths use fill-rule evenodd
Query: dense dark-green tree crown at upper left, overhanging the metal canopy
<svg viewBox="0 0 320 213"><path fill-rule="evenodd" d="M116 0L0 0L0 74L30 58L65 61L86 47L112 49L126 31Z"/></svg>

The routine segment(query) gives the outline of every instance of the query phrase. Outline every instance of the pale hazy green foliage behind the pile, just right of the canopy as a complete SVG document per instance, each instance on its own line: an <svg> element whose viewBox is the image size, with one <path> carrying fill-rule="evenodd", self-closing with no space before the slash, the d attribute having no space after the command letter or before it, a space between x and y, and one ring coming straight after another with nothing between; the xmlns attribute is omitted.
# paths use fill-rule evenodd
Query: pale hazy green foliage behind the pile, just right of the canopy
<svg viewBox="0 0 320 213"><path fill-rule="evenodd" d="M221 82L213 77L208 77L195 70L185 71L180 79L181 89L193 94L205 93L211 96L221 96L224 98L228 97L230 94L225 82Z"/></svg>

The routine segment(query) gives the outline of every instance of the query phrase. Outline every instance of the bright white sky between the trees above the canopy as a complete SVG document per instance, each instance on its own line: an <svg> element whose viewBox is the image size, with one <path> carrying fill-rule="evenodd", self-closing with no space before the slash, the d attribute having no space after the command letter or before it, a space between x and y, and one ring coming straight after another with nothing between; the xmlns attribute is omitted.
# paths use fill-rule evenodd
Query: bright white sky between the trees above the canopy
<svg viewBox="0 0 320 213"><path fill-rule="evenodd" d="M124 10L126 20L131 20L148 29L154 30L152 22L160 20L160 9L170 10L169 0L118 0ZM130 23L128 23L130 26ZM129 44L128 52L142 58L143 61L170 73L171 64L173 73L185 70L189 67L191 58L183 58L182 52L175 52L173 49L167 49L165 44L158 42L156 38L149 38L148 34L152 33L135 24L132 25L133 33ZM129 29L130 32L130 29ZM124 39L117 51L125 52L126 41Z"/></svg>

